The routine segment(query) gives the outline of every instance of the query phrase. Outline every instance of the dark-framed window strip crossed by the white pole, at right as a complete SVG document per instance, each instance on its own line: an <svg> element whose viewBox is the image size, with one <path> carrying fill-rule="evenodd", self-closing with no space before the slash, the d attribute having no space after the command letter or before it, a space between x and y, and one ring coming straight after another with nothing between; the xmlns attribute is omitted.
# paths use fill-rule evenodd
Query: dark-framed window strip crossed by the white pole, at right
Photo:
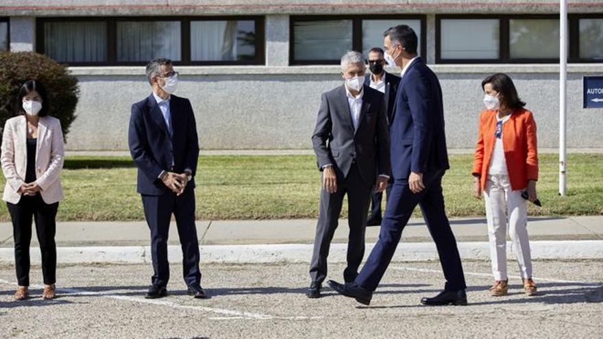
<svg viewBox="0 0 603 339"><path fill-rule="evenodd" d="M568 29L569 62L603 61L602 15L571 14ZM436 64L556 63L558 55L555 15L436 16Z"/></svg>

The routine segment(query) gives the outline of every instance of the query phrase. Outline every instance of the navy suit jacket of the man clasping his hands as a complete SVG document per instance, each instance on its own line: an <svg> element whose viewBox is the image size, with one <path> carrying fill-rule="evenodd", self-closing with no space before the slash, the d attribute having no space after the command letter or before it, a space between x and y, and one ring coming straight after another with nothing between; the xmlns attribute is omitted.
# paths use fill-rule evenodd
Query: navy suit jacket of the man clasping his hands
<svg viewBox="0 0 603 339"><path fill-rule="evenodd" d="M173 159L175 173L189 168L193 177L197 172L199 139L193 108L188 99L171 95L170 136L161 109L151 94L147 99L132 105L128 145L132 159L138 167L137 191L146 195L161 195L169 191L158 179L162 171L170 171ZM188 185L195 187L195 181Z"/></svg>

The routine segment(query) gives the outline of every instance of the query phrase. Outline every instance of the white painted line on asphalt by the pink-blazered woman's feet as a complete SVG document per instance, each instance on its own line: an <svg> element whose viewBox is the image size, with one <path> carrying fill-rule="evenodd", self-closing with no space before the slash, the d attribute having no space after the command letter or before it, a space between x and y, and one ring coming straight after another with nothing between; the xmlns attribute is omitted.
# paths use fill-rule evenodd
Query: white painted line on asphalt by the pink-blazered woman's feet
<svg viewBox="0 0 603 339"><path fill-rule="evenodd" d="M0 279L0 284L12 285L12 286L17 285L16 283L14 283L12 281L4 280L4 279ZM40 289L44 288L44 286L42 286L42 285L30 285L29 287L40 288ZM216 318L216 319L220 319L220 320L225 320L225 319L307 320L307 319L323 318L323 317L308 317L308 316L271 316L270 314L225 310L225 309L221 309L221 308L213 308L213 307L205 307L205 306L181 305L179 303L173 303L171 301L165 301L165 300L160 300L160 299L143 299L143 298L129 297L129 296L119 295L119 294L106 294L103 292L81 290L79 288L57 288L57 291L63 292L66 294L71 294L71 295L90 295L90 296L97 296L97 297L103 297L103 298L130 301L133 303L147 303L147 304L151 304L151 305L162 305L162 306L167 306L167 307L172 307L172 308L181 308L184 310L197 310L197 311L201 311L201 312L217 313L217 314L223 314L223 315L229 316L229 317L217 317Z"/></svg>

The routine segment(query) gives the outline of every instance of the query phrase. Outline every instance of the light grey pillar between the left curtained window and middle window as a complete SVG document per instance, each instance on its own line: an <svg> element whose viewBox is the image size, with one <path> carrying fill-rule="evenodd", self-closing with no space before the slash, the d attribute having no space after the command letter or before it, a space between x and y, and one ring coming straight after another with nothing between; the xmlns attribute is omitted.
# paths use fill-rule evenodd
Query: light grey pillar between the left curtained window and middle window
<svg viewBox="0 0 603 339"><path fill-rule="evenodd" d="M289 64L289 16L266 16L266 66Z"/></svg>

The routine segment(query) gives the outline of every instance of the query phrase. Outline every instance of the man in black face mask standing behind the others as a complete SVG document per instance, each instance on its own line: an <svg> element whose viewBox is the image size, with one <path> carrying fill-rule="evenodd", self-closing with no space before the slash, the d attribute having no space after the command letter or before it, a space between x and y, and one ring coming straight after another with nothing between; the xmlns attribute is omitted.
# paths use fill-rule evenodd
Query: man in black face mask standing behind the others
<svg viewBox="0 0 603 339"><path fill-rule="evenodd" d="M365 77L365 85L370 88L376 89L384 94L383 102L385 112L387 114L387 124L393 116L393 108L395 103L395 95L400 84L400 77L387 73L384 69L386 64L384 58L383 49L379 47L373 47L369 51L369 69L371 70L371 76ZM393 186L393 179L390 178L387 182L386 201L389 199L391 187ZM381 201L383 199L383 192L373 192L371 197L371 212L369 213L369 219L367 220L367 226L378 226L381 225Z"/></svg>

